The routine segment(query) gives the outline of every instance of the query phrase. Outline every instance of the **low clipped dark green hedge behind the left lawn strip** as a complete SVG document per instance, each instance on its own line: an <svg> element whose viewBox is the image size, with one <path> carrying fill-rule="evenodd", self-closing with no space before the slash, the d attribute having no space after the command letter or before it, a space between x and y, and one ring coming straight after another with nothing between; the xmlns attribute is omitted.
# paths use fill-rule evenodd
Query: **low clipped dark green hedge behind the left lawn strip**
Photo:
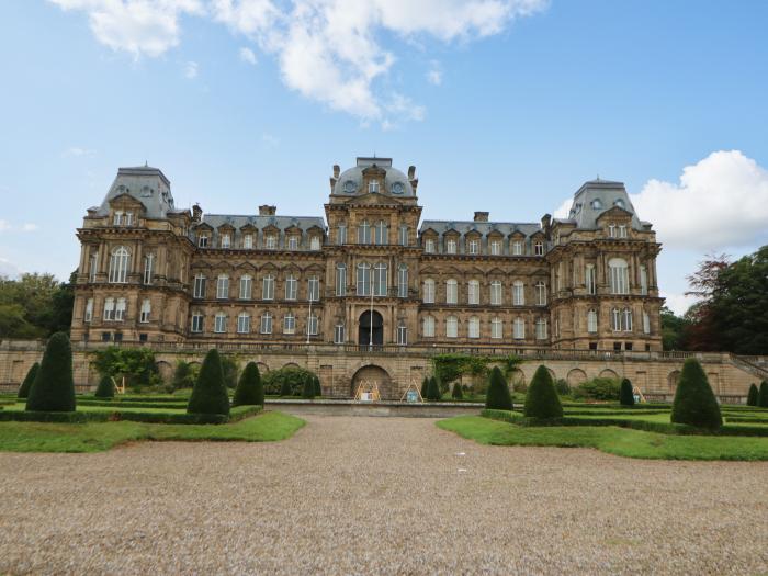
<svg viewBox="0 0 768 576"><path fill-rule="evenodd" d="M7 410L0 411L0 421L15 422L116 422L127 420L144 423L231 423L256 416L261 406L237 406L229 410L229 416L223 414L185 414L185 413L138 413L138 411L99 411L99 413L42 413Z"/></svg>

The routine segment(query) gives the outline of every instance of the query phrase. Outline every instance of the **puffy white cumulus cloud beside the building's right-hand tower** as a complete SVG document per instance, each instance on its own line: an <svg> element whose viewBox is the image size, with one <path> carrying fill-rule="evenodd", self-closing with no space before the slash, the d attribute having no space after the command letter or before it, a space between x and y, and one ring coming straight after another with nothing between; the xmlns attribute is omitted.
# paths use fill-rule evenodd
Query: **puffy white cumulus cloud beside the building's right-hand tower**
<svg viewBox="0 0 768 576"><path fill-rule="evenodd" d="M650 180L631 197L674 248L749 246L767 235L768 171L739 150L712 153L685 167L678 183Z"/></svg>

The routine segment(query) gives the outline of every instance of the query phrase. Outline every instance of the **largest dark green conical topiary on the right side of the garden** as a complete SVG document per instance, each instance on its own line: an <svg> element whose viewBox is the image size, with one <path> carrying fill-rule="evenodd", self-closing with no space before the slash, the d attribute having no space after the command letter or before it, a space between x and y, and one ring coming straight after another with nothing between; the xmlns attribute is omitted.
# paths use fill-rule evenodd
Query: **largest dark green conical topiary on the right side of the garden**
<svg viewBox="0 0 768 576"><path fill-rule="evenodd" d="M723 426L718 400L696 358L689 358L682 364L673 402L671 421L709 430L719 430Z"/></svg>

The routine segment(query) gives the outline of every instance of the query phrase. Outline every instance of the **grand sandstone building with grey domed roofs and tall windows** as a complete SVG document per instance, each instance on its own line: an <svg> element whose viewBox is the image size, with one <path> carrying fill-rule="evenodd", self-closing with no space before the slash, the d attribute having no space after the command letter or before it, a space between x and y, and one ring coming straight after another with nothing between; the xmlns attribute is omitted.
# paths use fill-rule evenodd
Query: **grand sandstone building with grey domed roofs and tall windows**
<svg viewBox="0 0 768 576"><path fill-rule="evenodd" d="M660 245L622 183L539 223L421 219L418 187L358 158L325 218L204 214L160 170L121 168L77 230L72 341L662 350Z"/></svg>

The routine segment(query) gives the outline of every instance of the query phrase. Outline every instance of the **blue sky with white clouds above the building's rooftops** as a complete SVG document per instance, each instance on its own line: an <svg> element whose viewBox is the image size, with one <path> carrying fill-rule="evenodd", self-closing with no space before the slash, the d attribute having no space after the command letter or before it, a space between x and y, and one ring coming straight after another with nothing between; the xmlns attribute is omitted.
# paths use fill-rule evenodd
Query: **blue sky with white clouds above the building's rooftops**
<svg viewBox="0 0 768 576"><path fill-rule="evenodd" d="M682 312L705 252L768 241L766 23L758 1L2 2L0 273L66 278L118 166L161 168L179 206L321 215L331 166L375 153L416 165L427 218L539 221L625 182Z"/></svg>

